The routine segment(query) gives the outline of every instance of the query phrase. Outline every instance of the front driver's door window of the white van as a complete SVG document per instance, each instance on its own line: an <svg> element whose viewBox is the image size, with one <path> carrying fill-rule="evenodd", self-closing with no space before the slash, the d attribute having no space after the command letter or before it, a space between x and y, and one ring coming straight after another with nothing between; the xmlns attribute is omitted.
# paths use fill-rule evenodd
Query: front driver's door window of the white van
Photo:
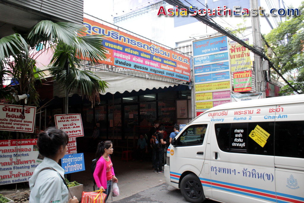
<svg viewBox="0 0 304 203"><path fill-rule="evenodd" d="M178 137L177 146L193 146L193 145L202 145L207 124L199 124L189 126L181 136Z"/></svg>

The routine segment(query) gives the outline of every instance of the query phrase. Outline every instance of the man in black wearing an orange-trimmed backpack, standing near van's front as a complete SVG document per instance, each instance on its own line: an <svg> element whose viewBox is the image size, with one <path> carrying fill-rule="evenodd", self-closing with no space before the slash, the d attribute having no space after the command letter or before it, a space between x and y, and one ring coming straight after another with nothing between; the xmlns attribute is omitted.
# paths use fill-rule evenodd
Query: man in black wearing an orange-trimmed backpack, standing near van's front
<svg viewBox="0 0 304 203"><path fill-rule="evenodd" d="M154 173L164 173L162 168L162 163L164 159L164 148L165 144L167 143L164 141L163 133L165 131L165 127L161 126L159 130L152 135L150 143L151 147L154 149L153 152L155 153L156 160L154 162L155 170Z"/></svg>

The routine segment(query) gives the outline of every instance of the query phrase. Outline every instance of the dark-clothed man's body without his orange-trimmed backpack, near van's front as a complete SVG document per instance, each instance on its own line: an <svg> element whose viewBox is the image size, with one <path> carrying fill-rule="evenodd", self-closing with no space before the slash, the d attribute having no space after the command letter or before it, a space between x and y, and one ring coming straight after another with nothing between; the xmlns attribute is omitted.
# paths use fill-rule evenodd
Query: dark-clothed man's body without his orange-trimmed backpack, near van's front
<svg viewBox="0 0 304 203"><path fill-rule="evenodd" d="M156 160L157 160L156 163L158 163L158 166L156 166L157 168L155 168L154 173L164 173L162 164L163 164L164 149L165 149L165 144L166 144L166 141L164 141L164 138L163 138L163 133L165 130L166 130L165 127L161 126L157 132L157 139L158 139L158 142L160 143L160 148L155 149Z"/></svg>

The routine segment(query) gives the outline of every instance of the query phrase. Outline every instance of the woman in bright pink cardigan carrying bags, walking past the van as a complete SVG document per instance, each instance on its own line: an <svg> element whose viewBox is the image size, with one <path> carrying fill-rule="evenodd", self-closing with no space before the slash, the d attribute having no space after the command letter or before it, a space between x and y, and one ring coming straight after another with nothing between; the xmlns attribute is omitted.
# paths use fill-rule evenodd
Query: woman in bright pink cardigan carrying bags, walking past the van
<svg viewBox="0 0 304 203"><path fill-rule="evenodd" d="M100 142L96 151L96 168L93 173L97 187L105 190L107 195L105 201L108 199L112 188L112 181L118 182L115 177L112 161L109 154L113 153L113 144L111 141Z"/></svg>

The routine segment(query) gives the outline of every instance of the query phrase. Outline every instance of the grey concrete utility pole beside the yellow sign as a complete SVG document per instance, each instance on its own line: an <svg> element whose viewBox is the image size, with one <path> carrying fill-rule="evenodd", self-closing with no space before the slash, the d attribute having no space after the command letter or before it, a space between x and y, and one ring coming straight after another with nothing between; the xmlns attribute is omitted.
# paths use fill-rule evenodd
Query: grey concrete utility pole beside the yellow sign
<svg viewBox="0 0 304 203"><path fill-rule="evenodd" d="M258 9L257 0L250 0L250 8ZM252 35L253 44L256 49L262 51L262 35L260 28L260 12L256 16L251 16L252 24ZM254 68L255 68L255 88L257 92L262 92L262 98L266 98L266 81L264 77L264 72L262 69L262 58L254 54Z"/></svg>

